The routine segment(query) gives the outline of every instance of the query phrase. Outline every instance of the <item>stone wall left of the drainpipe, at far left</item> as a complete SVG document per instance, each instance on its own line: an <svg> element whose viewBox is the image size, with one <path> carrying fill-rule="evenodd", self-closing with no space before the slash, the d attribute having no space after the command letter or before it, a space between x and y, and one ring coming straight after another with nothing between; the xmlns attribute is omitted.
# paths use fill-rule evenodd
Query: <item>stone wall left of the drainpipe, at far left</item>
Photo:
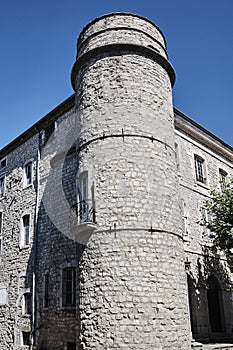
<svg viewBox="0 0 233 350"><path fill-rule="evenodd" d="M22 344L22 332L31 331L30 315L23 312L23 295L32 292L32 266L34 218L36 203L36 167L38 137L34 136L7 155L5 195L0 198L2 212L2 252L0 260L0 286L6 287L0 307L0 348L17 349ZM24 185L25 163L32 162L32 183ZM22 217L30 215L30 242L21 244Z"/></svg>

